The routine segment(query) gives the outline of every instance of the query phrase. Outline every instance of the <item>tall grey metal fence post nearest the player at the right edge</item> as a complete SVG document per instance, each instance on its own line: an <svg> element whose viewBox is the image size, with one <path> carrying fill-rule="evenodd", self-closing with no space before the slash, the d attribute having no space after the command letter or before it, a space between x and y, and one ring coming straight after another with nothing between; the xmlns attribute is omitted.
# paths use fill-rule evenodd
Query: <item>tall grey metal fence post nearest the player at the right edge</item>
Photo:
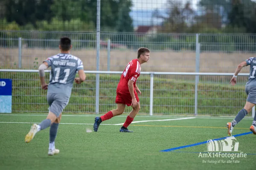
<svg viewBox="0 0 256 170"><path fill-rule="evenodd" d="M200 69L200 43L198 42L199 34L196 35L196 72ZM197 86L199 82L199 75L195 76L195 87L194 87L194 115L197 115Z"/></svg>

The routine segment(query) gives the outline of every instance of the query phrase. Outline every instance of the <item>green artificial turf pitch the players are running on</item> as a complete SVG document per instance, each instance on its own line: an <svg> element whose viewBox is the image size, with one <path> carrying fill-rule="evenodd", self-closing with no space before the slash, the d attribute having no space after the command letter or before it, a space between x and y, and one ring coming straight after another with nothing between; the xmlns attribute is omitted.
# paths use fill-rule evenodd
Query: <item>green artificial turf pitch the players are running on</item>
<svg viewBox="0 0 256 170"><path fill-rule="evenodd" d="M0 122L41 122L46 115L0 115ZM137 116L134 121L175 119L177 117ZM123 123L126 116L114 117L104 124ZM227 135L225 124L232 118L196 118L185 120L139 122L129 126L134 133L120 133L121 125L100 125L97 133L86 133L92 125L59 125L56 148L59 155L48 156L49 129L42 130L28 144L24 137L31 124L0 123L0 169L26 170L254 170L256 155L235 158L239 163L202 163L203 160L228 158L200 158L206 144L179 149L179 152L160 152ZM249 132L252 119L243 119L233 135ZM94 123L93 115L62 116L62 123ZM188 127L189 126L189 127ZM210 127L210 128L209 128ZM253 134L238 136L239 150L256 154Z"/></svg>

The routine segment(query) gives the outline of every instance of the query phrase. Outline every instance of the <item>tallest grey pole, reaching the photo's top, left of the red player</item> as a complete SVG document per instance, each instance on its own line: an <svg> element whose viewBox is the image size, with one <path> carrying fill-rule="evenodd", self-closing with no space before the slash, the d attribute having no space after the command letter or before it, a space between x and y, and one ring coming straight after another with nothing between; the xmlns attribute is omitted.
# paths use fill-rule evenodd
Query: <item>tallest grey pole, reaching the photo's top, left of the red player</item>
<svg viewBox="0 0 256 170"><path fill-rule="evenodd" d="M97 71L100 70L100 0L97 0ZM95 112L99 114L100 105L100 74L96 74Z"/></svg>

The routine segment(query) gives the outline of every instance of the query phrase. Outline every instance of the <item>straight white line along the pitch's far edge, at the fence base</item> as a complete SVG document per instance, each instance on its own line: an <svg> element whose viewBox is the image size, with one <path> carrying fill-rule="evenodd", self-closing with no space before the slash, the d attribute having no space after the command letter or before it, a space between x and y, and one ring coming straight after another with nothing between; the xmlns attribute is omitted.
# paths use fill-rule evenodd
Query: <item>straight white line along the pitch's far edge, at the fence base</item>
<svg viewBox="0 0 256 170"><path fill-rule="evenodd" d="M47 116L47 114L0 114L0 116ZM101 116L101 115L62 115L62 116L81 116L81 117L95 117L95 116ZM127 115L120 115L118 117L127 117ZM182 118L182 117L188 117L188 116L143 116L138 115L136 117L156 117L156 118ZM233 119L235 116L219 116L219 117L212 117L212 116L195 116L197 119ZM253 119L251 117L244 117L244 119Z"/></svg>

